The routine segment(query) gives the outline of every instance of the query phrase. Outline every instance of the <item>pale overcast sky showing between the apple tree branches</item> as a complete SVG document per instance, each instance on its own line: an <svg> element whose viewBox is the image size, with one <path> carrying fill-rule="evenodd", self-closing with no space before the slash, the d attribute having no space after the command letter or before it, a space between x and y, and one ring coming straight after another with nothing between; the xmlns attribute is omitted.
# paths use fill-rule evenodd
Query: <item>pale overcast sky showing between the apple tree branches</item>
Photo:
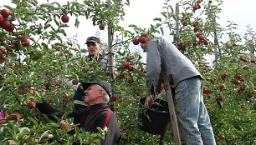
<svg viewBox="0 0 256 145"><path fill-rule="evenodd" d="M39 2L46 2L46 0L39 0ZM66 0L49 0L49 2L60 2L66 3ZM70 1L70 0L69 0ZM82 0L79 0L82 2ZM203 2L207 2L208 0L203 0ZM212 0L216 1L216 0ZM131 5L129 7L125 7L125 21L120 23L123 27L128 26L128 24L136 24L141 28L149 28L150 24L153 23L153 18L157 18L161 16L161 7L163 7L163 2L165 0L130 0ZM175 3L178 0L170 0L172 6L175 6ZM184 0L183 0L184 2ZM9 5L10 1L0 0L0 7L3 5ZM222 12L218 15L219 19L217 23L219 23L222 27L228 25L228 21L238 24L237 33L240 36L246 32L246 27L249 25L250 28L253 28L256 31L256 1L255 0L223 0L223 5L221 5ZM103 42L107 42L107 29L99 30L98 26L93 26L92 23L88 20L81 19L80 27L74 27L74 19L70 18L69 20L69 28L66 29L66 32L69 36L78 35L79 45L81 47L84 46L84 42L87 37L94 36L96 32L100 32L100 37L103 39ZM125 26L126 25L126 26ZM166 32L168 33L168 32ZM169 37L169 36L161 36L161 37ZM134 51L139 51L141 54L143 53L140 46L134 46L131 44L131 49ZM142 54L142 59L145 60L145 54Z"/></svg>

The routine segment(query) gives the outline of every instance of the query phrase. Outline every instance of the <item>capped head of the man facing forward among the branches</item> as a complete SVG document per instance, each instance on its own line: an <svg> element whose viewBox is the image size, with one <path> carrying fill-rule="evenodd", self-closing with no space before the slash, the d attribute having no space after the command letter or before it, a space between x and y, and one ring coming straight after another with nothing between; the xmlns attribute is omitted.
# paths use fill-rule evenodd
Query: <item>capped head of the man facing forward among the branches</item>
<svg viewBox="0 0 256 145"><path fill-rule="evenodd" d="M100 54L102 45L98 37L88 37L85 44L87 44L87 49L91 56L98 56Z"/></svg>

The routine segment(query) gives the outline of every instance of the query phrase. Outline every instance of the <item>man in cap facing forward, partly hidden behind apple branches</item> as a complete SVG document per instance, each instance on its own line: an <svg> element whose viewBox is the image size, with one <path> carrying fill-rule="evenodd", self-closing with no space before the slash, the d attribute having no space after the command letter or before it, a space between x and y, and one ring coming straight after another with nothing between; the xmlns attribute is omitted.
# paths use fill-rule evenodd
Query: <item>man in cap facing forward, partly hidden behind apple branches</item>
<svg viewBox="0 0 256 145"><path fill-rule="evenodd" d="M86 39L85 44L87 45L87 49L89 52L89 55L86 56L89 61L93 60L95 58L98 62L101 63L100 68L106 71L107 62L100 54L100 50L102 47L102 44L100 42L100 38L98 37L88 37ZM84 108L86 105L84 104L84 92L81 89L80 83L77 85L73 85L72 80L68 82L68 86L72 87L74 89L74 110L79 110L80 108ZM76 122L76 121L74 121Z"/></svg>

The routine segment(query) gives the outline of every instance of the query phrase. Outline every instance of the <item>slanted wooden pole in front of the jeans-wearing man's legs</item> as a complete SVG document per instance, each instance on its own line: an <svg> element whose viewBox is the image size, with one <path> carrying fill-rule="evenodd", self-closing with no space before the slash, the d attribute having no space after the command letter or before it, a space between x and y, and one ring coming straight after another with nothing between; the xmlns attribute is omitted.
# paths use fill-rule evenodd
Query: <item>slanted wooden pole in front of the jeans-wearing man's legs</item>
<svg viewBox="0 0 256 145"><path fill-rule="evenodd" d="M182 142L181 142L180 132L177 124L177 117L176 117L176 112L175 112L175 107L174 107L174 102L172 97L172 90L170 87L169 77L166 73L164 73L163 80L164 80L166 97L167 97L167 102L168 102L168 107L169 107L169 112L171 117L174 142L176 145L181 145Z"/></svg>

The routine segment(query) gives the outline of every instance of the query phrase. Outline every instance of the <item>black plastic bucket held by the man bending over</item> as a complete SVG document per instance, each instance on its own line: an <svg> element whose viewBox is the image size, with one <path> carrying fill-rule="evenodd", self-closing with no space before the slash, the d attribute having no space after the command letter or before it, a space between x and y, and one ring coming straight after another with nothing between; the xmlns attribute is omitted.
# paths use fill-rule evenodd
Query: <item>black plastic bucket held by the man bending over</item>
<svg viewBox="0 0 256 145"><path fill-rule="evenodd" d="M151 134L162 134L166 132L168 122L170 122L170 113L168 103L161 99L156 99L152 107L144 107L146 97L142 97L140 107L142 111L139 112L139 128ZM141 109L140 109L141 110Z"/></svg>

